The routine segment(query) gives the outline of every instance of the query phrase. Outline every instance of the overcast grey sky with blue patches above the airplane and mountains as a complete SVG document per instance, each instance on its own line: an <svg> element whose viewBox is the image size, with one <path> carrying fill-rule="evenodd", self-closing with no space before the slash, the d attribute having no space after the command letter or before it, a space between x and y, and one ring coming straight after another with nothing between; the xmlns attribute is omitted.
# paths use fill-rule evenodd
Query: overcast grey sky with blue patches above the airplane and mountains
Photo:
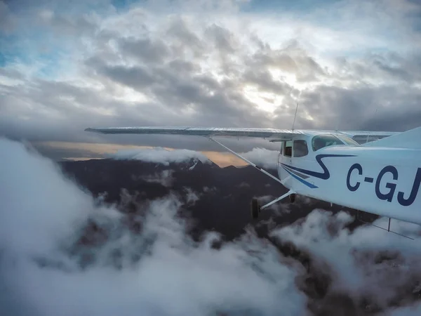
<svg viewBox="0 0 421 316"><path fill-rule="evenodd" d="M298 98L301 129L421 126L420 1L316 2L0 1L0 136L55 159L107 152L86 143L212 151L83 130L289 129Z"/></svg>

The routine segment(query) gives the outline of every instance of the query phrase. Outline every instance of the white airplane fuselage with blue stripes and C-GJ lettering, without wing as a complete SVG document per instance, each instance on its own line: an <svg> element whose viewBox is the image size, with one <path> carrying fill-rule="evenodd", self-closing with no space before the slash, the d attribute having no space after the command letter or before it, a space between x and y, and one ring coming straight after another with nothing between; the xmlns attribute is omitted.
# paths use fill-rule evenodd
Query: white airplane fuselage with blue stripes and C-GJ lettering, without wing
<svg viewBox="0 0 421 316"><path fill-rule="evenodd" d="M421 150L345 143L314 150L314 136L293 138L307 143L302 157L294 157L294 148L286 152L288 143L282 143L283 185L307 197L421 224Z"/></svg>

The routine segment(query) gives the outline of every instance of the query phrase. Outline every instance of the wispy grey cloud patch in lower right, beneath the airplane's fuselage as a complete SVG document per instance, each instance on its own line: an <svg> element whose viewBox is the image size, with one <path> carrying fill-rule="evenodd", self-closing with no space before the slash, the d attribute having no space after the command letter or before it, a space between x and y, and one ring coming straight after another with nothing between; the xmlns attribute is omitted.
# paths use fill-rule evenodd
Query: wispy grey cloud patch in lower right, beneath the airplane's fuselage
<svg viewBox="0 0 421 316"><path fill-rule="evenodd" d="M315 209L305 220L274 230L272 235L307 251L316 269L330 270L328 293L347 293L357 308L364 300L383 311L399 301L410 303L419 286L415 280L421 275L417 265L420 225L392 221L392 230L415 238L411 241L370 225L351 231L347 225L353 220L343 211ZM385 228L387 218L374 224Z"/></svg>

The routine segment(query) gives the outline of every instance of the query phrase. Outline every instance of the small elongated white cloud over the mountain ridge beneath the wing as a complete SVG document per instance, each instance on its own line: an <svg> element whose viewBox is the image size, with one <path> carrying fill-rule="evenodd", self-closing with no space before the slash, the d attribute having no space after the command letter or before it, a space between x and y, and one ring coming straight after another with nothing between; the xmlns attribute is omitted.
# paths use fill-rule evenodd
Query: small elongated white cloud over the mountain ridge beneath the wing
<svg viewBox="0 0 421 316"><path fill-rule="evenodd" d="M210 160L201 152L194 150L167 150L161 147L141 150L118 150L115 154L109 154L108 157L154 162L164 166L168 166L171 162L188 162L190 159L198 159L205 164L210 164Z"/></svg>

